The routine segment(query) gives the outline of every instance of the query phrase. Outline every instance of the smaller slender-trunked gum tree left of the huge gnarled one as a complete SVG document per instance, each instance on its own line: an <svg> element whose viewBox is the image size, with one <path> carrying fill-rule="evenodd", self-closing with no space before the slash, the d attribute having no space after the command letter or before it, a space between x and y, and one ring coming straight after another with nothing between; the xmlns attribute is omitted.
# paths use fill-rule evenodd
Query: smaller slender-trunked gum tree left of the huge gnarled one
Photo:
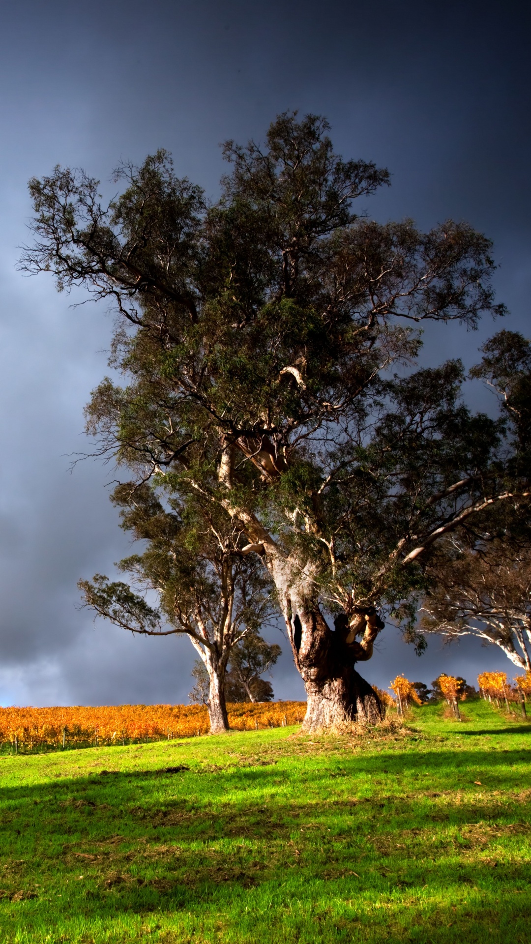
<svg viewBox="0 0 531 944"><path fill-rule="evenodd" d="M266 571L256 556L242 553L240 531L224 514L197 498L184 506L174 496L166 505L145 483L118 485L112 495L122 509L122 527L146 542L141 554L118 565L128 583L96 574L80 581L87 606L130 632L150 636L184 633L197 650L208 678L197 678L208 705L211 731L229 729L225 680L234 647L271 612ZM158 606L146 601L153 593Z"/></svg>

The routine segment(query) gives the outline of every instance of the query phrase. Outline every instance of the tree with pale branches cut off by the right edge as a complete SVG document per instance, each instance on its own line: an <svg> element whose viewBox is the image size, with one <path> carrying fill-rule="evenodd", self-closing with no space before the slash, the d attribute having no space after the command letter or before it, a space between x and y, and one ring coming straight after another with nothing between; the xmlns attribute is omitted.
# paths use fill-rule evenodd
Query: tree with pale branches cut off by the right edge
<svg viewBox="0 0 531 944"><path fill-rule="evenodd" d="M506 449L507 493L525 491L531 466L531 343L500 331L483 347L471 376L498 397ZM422 629L449 641L471 635L498 646L515 666L531 669L531 522L528 506L510 498L476 526L444 541L428 567L430 593Z"/></svg>

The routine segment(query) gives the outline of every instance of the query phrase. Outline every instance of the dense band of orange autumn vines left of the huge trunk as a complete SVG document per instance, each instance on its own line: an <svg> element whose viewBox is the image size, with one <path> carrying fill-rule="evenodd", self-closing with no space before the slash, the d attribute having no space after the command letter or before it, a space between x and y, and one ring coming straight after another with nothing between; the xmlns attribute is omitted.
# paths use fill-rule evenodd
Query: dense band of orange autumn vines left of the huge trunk
<svg viewBox="0 0 531 944"><path fill-rule="evenodd" d="M299 724L305 701L229 704L235 731ZM90 708L0 708L0 742L32 750L171 740L209 733L204 705L105 705Z"/></svg>

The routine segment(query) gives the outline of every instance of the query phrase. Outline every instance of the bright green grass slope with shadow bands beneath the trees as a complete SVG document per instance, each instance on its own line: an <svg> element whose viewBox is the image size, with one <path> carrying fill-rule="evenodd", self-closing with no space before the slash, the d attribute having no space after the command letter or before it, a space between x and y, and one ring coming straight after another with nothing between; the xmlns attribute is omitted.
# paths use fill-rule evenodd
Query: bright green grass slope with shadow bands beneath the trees
<svg viewBox="0 0 531 944"><path fill-rule="evenodd" d="M0 940L529 942L531 724L465 710L4 756Z"/></svg>

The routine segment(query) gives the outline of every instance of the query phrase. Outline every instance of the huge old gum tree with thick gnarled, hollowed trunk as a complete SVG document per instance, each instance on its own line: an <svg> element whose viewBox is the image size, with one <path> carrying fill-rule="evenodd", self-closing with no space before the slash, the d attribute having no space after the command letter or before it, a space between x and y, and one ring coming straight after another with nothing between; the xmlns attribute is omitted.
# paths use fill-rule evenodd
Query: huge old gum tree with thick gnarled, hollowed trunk
<svg viewBox="0 0 531 944"><path fill-rule="evenodd" d="M57 168L30 183L23 263L115 304L126 382L94 391L89 430L135 480L210 501L239 531L275 585L308 731L381 716L354 666L382 615L421 647L437 542L527 494L503 424L464 405L461 363L410 370L416 325L504 313L491 244L464 223L357 214L388 172L342 160L327 131L284 113L263 147L226 143L212 205L165 152L121 167L109 207Z"/></svg>

